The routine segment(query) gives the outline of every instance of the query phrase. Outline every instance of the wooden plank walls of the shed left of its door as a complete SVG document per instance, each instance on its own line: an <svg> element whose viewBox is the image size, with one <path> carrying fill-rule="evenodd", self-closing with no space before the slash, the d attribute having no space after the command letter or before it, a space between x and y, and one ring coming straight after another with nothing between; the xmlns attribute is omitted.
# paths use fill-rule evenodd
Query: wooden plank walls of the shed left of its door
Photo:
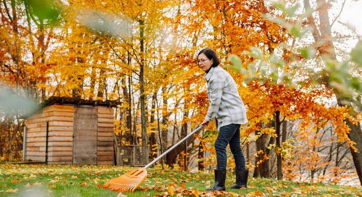
<svg viewBox="0 0 362 197"><path fill-rule="evenodd" d="M48 164L72 164L73 106L52 105L27 118L26 159L45 161L46 122Z"/></svg>

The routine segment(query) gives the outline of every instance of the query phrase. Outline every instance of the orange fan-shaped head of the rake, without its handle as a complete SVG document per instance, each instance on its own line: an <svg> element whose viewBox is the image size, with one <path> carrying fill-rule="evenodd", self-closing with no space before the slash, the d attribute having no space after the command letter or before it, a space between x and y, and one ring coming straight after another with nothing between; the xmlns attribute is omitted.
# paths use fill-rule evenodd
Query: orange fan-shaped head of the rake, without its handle
<svg viewBox="0 0 362 197"><path fill-rule="evenodd" d="M147 170L145 168L139 168L110 180L108 183L104 184L103 187L118 192L133 192L146 176Z"/></svg>

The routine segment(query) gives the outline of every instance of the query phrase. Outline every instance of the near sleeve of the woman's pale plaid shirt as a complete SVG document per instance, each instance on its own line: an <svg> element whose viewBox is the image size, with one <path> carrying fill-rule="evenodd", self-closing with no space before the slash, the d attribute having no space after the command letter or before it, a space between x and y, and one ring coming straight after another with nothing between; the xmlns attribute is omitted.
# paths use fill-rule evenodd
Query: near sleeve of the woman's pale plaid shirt
<svg viewBox="0 0 362 197"><path fill-rule="evenodd" d="M219 111L221 104L221 97L224 90L224 81L219 78L210 81L209 92L209 110L206 114L205 121L211 121L214 119Z"/></svg>

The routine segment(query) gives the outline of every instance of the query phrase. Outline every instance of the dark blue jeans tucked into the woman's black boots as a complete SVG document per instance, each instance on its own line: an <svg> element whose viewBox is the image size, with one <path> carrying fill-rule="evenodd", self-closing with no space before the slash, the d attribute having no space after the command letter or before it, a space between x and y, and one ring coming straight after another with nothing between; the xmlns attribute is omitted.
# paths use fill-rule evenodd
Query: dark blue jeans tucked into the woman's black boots
<svg viewBox="0 0 362 197"><path fill-rule="evenodd" d="M235 169L245 170L245 158L240 147L240 125L237 124L230 124L220 128L215 141L217 169L226 169L226 146L228 144L234 155Z"/></svg>

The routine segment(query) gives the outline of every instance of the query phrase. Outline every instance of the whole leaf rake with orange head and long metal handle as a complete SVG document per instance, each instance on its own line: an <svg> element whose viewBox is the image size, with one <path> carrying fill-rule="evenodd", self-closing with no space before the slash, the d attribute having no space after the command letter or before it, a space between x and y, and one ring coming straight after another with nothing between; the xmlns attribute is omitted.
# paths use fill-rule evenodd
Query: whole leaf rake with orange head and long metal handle
<svg viewBox="0 0 362 197"><path fill-rule="evenodd" d="M158 161L161 157L169 153L171 150L176 148L178 145L183 143L185 140L187 140L190 136L194 135L196 132L198 132L201 128L203 128L205 125L199 126L197 129L195 129L193 132L188 134L185 138L177 142L175 145L173 145L171 148L166 150L164 153L162 153L160 156L158 156L156 159L151 161L149 164L144 166L143 168L139 168L130 172L127 172L123 174L122 176L118 178L114 178L110 180L108 183L104 184L103 187L106 189L110 189L113 191L124 191L124 192L133 192L140 184L141 182L146 178L147 176L147 170L149 166L154 164L156 161Z"/></svg>

